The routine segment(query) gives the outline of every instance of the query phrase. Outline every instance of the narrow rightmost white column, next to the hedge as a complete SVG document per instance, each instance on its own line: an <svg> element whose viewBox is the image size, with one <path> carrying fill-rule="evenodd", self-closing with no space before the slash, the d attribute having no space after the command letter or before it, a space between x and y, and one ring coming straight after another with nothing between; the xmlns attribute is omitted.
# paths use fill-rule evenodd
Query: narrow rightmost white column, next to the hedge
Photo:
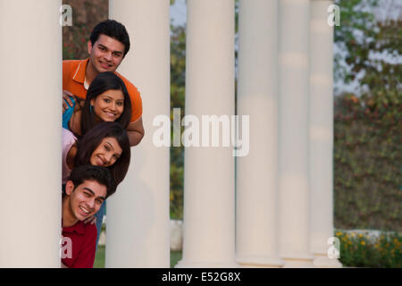
<svg viewBox="0 0 402 286"><path fill-rule="evenodd" d="M311 248L317 267L340 267L330 259L327 244L333 234L333 27L327 23L328 0L311 3L310 20L310 181Z"/></svg>

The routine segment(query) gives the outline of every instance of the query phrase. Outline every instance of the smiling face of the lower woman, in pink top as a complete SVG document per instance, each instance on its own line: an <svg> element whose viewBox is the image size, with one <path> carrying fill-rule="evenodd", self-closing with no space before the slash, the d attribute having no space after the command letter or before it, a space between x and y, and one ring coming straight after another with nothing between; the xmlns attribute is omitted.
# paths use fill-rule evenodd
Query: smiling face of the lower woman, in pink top
<svg viewBox="0 0 402 286"><path fill-rule="evenodd" d="M113 165L121 156L122 150L113 137L104 138L89 159L90 163L97 166L108 167Z"/></svg>

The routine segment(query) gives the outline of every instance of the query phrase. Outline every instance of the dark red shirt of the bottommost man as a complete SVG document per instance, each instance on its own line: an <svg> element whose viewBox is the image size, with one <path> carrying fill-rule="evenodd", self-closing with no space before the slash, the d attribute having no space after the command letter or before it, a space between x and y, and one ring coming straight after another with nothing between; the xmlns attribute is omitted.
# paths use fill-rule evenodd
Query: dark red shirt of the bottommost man
<svg viewBox="0 0 402 286"><path fill-rule="evenodd" d="M62 262L69 268L93 268L96 252L96 225L78 222L63 227ZM65 238L70 238L66 240ZM70 246L69 246L70 244ZM69 250L67 248L71 247Z"/></svg>

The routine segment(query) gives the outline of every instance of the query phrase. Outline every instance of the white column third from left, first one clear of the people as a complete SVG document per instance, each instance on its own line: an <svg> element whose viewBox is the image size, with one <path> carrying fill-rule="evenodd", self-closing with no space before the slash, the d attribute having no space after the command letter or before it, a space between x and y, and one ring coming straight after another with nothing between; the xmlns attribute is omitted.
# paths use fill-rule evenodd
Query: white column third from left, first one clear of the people
<svg viewBox="0 0 402 286"><path fill-rule="evenodd" d="M186 55L186 116L201 123L202 115L234 114L234 1L188 1ZM222 147L222 139L220 147L202 147L205 125L197 139L195 125L190 128L200 147L185 149L183 258L177 266L234 267L233 149Z"/></svg>

